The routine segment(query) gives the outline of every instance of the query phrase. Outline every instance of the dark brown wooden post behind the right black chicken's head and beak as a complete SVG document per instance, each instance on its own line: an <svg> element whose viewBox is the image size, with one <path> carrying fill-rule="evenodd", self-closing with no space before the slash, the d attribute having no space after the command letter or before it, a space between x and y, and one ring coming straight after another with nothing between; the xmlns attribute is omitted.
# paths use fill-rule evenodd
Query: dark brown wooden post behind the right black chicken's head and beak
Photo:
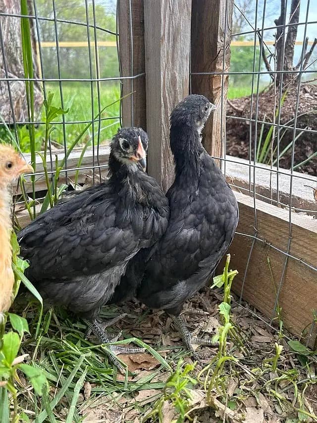
<svg viewBox="0 0 317 423"><path fill-rule="evenodd" d="M232 13L233 0L192 1L192 72L229 70ZM224 157L225 151L222 149L225 145L228 76L223 76L222 84L222 75L194 74L191 89L192 94L203 94L216 106L215 112L205 126L203 143L212 156Z"/></svg>

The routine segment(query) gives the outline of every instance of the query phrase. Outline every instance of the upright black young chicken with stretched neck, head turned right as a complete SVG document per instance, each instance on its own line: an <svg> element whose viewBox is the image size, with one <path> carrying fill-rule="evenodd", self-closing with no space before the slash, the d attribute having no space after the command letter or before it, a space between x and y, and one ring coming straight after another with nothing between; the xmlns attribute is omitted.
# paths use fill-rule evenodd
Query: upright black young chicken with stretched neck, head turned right
<svg viewBox="0 0 317 423"><path fill-rule="evenodd" d="M238 205L220 169L201 143L201 132L215 109L206 97L190 95L170 117L170 148L175 181L167 191L170 219L165 234L149 251L142 250L129 263L130 283L139 285L137 298L153 309L175 317L183 342L195 359L194 338L180 317L183 303L211 277L229 247L237 224ZM144 274L135 274L133 263ZM139 278L139 280L138 280ZM142 281L140 283L140 280ZM132 282L131 282L132 281ZM120 284L119 291L124 292ZM131 288L129 288L131 289Z"/></svg>

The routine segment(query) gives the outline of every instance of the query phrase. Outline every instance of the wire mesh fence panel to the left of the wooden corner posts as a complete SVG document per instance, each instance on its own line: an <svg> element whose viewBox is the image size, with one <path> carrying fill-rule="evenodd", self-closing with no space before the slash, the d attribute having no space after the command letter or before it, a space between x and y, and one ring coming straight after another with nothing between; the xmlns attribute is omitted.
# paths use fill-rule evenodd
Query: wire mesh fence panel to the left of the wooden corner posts
<svg viewBox="0 0 317 423"><path fill-rule="evenodd" d="M0 83L4 81L7 86L8 91L8 98L10 102L10 116L9 119L6 119L6 124L12 126L14 128L14 134L16 141L18 142L18 130L21 127L20 125L25 125L26 121L22 120L19 121L16 119L15 116L15 107L14 102L12 99L12 90L11 90L11 84L16 82L25 82L25 81L34 81L35 83L41 84L41 89L43 90L43 98L44 100L47 99L48 91L50 91L52 84L57 83L58 85L58 94L56 96L56 93L53 98L53 105L60 106L62 109L66 109L67 105L65 104L65 87L67 88L66 84L71 83L71 87L78 88L83 86L83 84L89 83L90 85L90 101L91 101L91 117L87 119L67 119L67 114L62 115L61 119L55 120L53 122L53 125L58 127L61 126L61 134L62 134L62 146L64 150L64 157L65 157L65 165L63 169L61 170L61 173L65 174L65 179L67 181L67 172L68 171L88 171L91 170L93 173L93 183L95 183L95 173L96 171L99 171L99 177L101 178L101 169L107 167L107 163L101 163L100 162L100 146L102 144L101 140L101 133L102 133L102 125L103 123L107 123L107 121L110 121L116 124L113 124L114 128L112 130L112 134L108 136L108 139L111 138L111 135L113 135L116 132L116 128L118 125L121 125L122 117L121 117L121 105L120 102L116 104L116 114L112 114L112 116L102 116L102 108L105 107L105 104L101 103L101 83L109 84L109 86L112 86L113 83L120 84L119 92L122 91L121 88L121 82L124 79L134 79L137 78L136 76L120 76L119 72L119 57L118 57L118 28L117 28L117 16L116 16L116 4L112 0L105 0L103 2L104 7L104 13L109 14L113 16L113 21L115 22L115 31L113 29L105 28L103 26L98 25L97 23L97 16L96 16L96 9L98 6L100 6L101 2L99 1L96 5L95 0L83 0L80 4L78 2L78 6L84 6L85 13L82 18L76 19L67 19L63 18L62 10L59 9L59 4L56 2L56 0L51 0L48 4L51 5L51 9L48 7L47 15L43 16L39 13L39 3L37 0L31 0L29 2L29 14L23 15L20 12L20 1L15 1L16 10L12 9L10 11L5 10L3 7L0 11L0 45L1 45L1 56L3 61L3 68L4 68L4 74L0 75ZM42 3L42 2L41 2ZM40 3L40 4L41 4ZM30 7L31 5L31 7ZM100 9L99 9L100 11ZM4 19L10 19L9 25L15 27L20 32L20 25L21 25L21 18L28 18L32 27L34 28L34 32L36 34L35 38L37 41L37 55L38 55L38 61L39 61L39 67L40 72L39 74L36 74L34 72L34 78L25 78L24 75L12 75L13 72L11 72L10 69L10 63L7 62L7 57L5 54L6 46L4 45L4 35L2 31L2 27L4 24ZM44 41L53 41L56 44L56 47L51 49L52 55L54 60L57 64L57 75L55 77L48 77L46 76L46 70L48 69L48 66L46 66L45 60L46 56L44 53L45 47L42 46L43 44L43 25L45 23L50 23L53 25L53 39L51 40L44 40ZM86 29L86 34L82 32L82 39L78 41L84 41L87 42L87 62L83 63L83 66L88 67L88 73L89 75L87 77L64 77L62 72L62 59L61 59L61 47L59 47L60 42L60 35L59 30L63 28L63 25L67 25L67 28L82 28ZM132 25L131 25L131 31L132 31ZM115 37L116 40L116 60L117 64L115 66L114 74L111 76L102 76L100 71L100 64L99 64L99 56L100 56L100 47L98 46L98 42L100 39L103 38L104 34L110 34ZM71 49L69 49L70 51ZM21 52L20 52L21 53ZM33 51L34 54L34 51ZM22 55L22 53L21 53ZM22 60L22 57L20 58ZM34 59L35 61L35 59ZM35 67L35 66L34 66ZM23 71L23 69L21 69ZM74 69L75 70L75 69ZM49 69L50 71L50 69ZM110 85L112 84L112 85ZM105 88L105 85L103 85L103 88ZM132 94L133 96L133 94ZM120 95L117 95L116 99L119 100ZM97 108L94 105L94 100L97 99ZM68 99L69 100L69 99ZM78 99L77 99L78 100ZM80 100L80 99L79 99ZM40 114L38 114L40 115ZM97 116L97 118L96 118ZM41 116L39 116L40 119L36 119L34 121L28 121L28 124L34 125L35 127L38 127L39 125L44 125L45 121L41 119ZM69 168L67 164L67 135L68 130L67 128L70 125L83 125L91 123L91 151L92 151L92 165L91 166L77 166ZM5 127L4 121L0 122L0 128ZM78 132L80 132L80 127ZM89 152L89 149L88 151ZM50 168L48 169L48 174L53 176L55 173L53 162L55 161L54 156L54 148L52 144L52 137L49 138L49 153L50 153ZM44 172L36 172L36 177L43 177L45 175ZM33 193L34 194L34 193ZM41 198L37 198L38 200Z"/></svg>

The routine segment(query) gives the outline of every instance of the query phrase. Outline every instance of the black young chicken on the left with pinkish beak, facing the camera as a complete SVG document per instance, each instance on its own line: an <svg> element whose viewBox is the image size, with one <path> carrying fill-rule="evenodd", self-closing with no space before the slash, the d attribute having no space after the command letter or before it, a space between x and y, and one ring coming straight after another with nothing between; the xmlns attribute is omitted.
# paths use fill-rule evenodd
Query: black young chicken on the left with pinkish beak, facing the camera
<svg viewBox="0 0 317 423"><path fill-rule="evenodd" d="M129 260L167 227L168 200L144 172L147 143L143 129L119 129L111 143L109 180L57 204L18 234L21 255L30 262L26 276L43 298L83 317L103 343L109 338L96 320L101 306Z"/></svg>

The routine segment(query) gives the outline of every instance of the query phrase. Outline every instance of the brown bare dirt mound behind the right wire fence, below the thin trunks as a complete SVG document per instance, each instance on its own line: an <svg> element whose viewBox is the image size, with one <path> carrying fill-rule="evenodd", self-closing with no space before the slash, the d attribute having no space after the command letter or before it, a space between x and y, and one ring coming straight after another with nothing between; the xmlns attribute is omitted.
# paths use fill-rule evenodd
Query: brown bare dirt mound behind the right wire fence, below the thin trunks
<svg viewBox="0 0 317 423"><path fill-rule="evenodd" d="M290 86L287 90L286 97L281 108L280 124L293 126L295 116L297 90L295 86ZM277 97L278 99L278 89ZM256 95L253 95L253 107L252 107L252 119L255 119L255 105ZM268 89L260 93L259 96L259 121L273 122L274 110L278 105L275 104L275 91L271 85ZM239 118L246 118L246 120L227 119L226 134L227 134L227 154L237 156L244 159L249 159L249 136L250 136L250 119L251 110L251 96L243 97L232 100L227 104L227 115L235 116ZM277 123L277 118L275 119ZM253 135L252 135L252 159L254 155L254 123ZM261 124L258 124L258 136L259 140ZM317 129L317 85L314 84L303 84L301 86L300 102L298 110L298 119L296 126L298 128L306 129ZM265 125L264 135L265 137L268 131L269 125ZM280 131L280 137L284 129ZM300 131L296 132L298 135ZM277 129L275 129L275 137L277 137ZM282 137L280 142L280 152L292 141L293 130L288 129L285 135ZM274 139L274 147L276 145L276 138ZM316 134L304 132L295 143L294 151L294 165L301 163L302 161L309 158L314 152L317 151L317 137ZM280 158L280 167L284 169L290 169L291 166L291 149L289 149L285 155ZM317 157L311 159L309 162L300 166L296 169L298 172L307 173L309 175L316 175L317 173Z"/></svg>

